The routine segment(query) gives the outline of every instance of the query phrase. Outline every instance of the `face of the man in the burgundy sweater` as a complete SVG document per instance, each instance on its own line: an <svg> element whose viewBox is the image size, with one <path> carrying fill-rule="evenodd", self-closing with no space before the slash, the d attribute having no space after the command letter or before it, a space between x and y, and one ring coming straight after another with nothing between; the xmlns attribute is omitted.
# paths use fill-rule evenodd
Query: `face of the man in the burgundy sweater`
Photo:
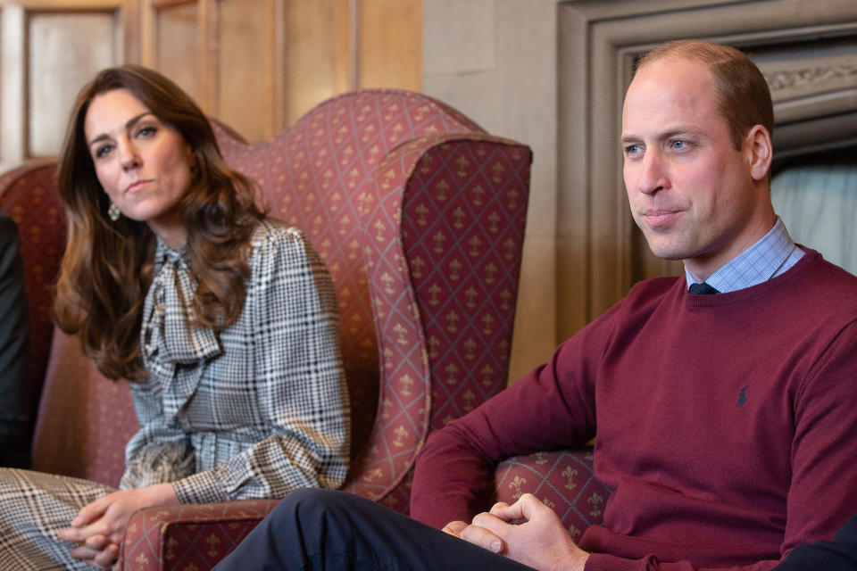
<svg viewBox="0 0 857 571"><path fill-rule="evenodd" d="M622 112L634 220L656 256L684 260L700 279L764 236L774 220L772 211L761 213L760 201L770 200L753 179L752 145L745 140L736 151L716 103L705 65L667 57L637 72Z"/></svg>

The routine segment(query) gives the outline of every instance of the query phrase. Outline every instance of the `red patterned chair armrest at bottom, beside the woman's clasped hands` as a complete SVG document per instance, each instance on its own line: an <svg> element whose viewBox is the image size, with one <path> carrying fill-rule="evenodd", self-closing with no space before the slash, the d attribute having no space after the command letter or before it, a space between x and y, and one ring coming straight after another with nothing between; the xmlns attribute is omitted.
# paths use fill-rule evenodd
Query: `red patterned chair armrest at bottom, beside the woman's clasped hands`
<svg viewBox="0 0 857 571"><path fill-rule="evenodd" d="M122 569L211 569L279 500L179 504L135 512L121 545Z"/></svg>

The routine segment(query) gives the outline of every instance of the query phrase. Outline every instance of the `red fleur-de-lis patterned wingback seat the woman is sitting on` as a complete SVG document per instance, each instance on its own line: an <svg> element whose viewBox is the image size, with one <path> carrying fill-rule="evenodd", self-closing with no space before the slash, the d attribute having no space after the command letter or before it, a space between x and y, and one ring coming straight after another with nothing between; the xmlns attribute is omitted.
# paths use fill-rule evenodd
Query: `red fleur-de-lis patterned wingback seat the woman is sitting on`
<svg viewBox="0 0 857 571"><path fill-rule="evenodd" d="M340 95L260 145L214 127L226 160L258 181L272 216L307 232L333 277L354 412L345 489L406 512L428 432L506 385L531 153L395 90ZM0 178L0 208L29 248L34 382L50 361L35 468L116 484L137 428L127 385L98 376L64 335L48 357L48 285L62 247L53 171ZM209 568L275 504L141 510L124 568Z"/></svg>

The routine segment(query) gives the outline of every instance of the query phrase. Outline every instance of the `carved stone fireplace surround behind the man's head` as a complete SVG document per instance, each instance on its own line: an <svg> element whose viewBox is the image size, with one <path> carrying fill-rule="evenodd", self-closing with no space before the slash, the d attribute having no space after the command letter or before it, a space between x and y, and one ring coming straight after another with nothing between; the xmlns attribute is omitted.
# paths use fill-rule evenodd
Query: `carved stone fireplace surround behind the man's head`
<svg viewBox="0 0 857 571"><path fill-rule="evenodd" d="M853 0L580 0L557 11L559 315L595 319L635 281L681 271L648 252L621 177L621 103L653 46L696 37L750 54L774 99L778 165L857 149ZM563 338L579 323L558 327Z"/></svg>

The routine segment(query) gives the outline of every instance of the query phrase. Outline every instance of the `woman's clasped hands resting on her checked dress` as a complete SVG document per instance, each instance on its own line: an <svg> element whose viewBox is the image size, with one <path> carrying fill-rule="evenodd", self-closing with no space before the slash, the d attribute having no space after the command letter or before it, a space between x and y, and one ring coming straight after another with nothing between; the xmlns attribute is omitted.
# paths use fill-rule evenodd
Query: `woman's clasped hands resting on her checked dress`
<svg viewBox="0 0 857 571"><path fill-rule="evenodd" d="M99 569L115 567L119 544L128 520L137 509L177 503L172 484L154 484L138 490L112 492L84 506L71 527L58 532L66 542L80 543L71 557Z"/></svg>

